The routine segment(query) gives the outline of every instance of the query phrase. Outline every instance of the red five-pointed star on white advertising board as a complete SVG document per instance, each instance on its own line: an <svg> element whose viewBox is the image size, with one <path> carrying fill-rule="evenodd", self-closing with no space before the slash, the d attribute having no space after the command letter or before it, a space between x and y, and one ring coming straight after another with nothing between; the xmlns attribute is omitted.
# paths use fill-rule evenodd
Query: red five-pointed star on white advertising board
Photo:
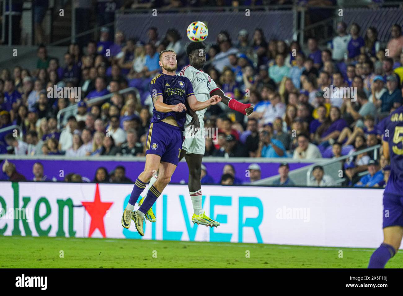
<svg viewBox="0 0 403 296"><path fill-rule="evenodd" d="M100 188L98 184L95 190L94 201L82 201L81 203L87 210L88 214L91 216L91 224L89 225L88 237L91 237L91 235L97 228L100 230L102 236L106 237L104 216L112 203L103 203L101 201Z"/></svg>

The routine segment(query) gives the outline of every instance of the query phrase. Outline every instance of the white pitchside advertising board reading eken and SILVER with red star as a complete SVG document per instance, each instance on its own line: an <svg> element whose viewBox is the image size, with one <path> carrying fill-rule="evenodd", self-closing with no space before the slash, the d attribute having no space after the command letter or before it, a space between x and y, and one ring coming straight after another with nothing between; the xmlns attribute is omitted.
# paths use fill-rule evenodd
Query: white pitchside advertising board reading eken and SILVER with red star
<svg viewBox="0 0 403 296"><path fill-rule="evenodd" d="M1 182L0 235L139 239L134 226L120 225L132 188ZM187 185L168 185L153 207L156 223L145 224L144 238L376 248L382 242L382 193L358 188L203 186L203 208L221 222L218 228L207 228L191 223Z"/></svg>

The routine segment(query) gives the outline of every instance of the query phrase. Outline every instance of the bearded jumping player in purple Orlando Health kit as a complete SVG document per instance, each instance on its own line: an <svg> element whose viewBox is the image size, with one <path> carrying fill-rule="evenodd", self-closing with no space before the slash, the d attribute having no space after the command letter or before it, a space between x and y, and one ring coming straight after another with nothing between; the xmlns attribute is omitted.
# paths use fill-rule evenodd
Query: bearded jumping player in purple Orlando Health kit
<svg viewBox="0 0 403 296"><path fill-rule="evenodd" d="M186 105L195 112L222 100L219 95L214 95L207 101L197 101L190 80L176 75L175 70L178 68L178 64L176 53L173 50L160 52L159 64L162 66L162 74L154 77L149 87L154 109L147 133L145 168L135 181L129 203L122 216L122 226L129 228L133 219L137 232L141 236L144 235L145 213L170 182L178 165L186 121ZM195 121L198 121L198 118L195 118ZM141 192L154 172L157 171L159 171L158 180L150 186L141 207L133 212Z"/></svg>

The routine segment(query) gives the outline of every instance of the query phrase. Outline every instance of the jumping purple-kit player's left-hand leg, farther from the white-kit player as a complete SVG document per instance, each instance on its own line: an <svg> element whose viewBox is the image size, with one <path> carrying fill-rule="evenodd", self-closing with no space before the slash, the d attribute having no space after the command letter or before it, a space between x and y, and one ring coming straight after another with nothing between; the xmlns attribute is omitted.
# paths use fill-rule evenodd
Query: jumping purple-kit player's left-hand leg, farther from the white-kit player
<svg viewBox="0 0 403 296"><path fill-rule="evenodd" d="M137 199L139 199L140 194L143 192L145 186L147 185L147 182L151 179L154 172L158 170L160 160L161 157L159 155L146 155L144 171L138 176L137 180L135 181L133 190L130 195L129 203L126 206L125 211L123 211L122 226L124 228L130 227L134 205L136 204ZM144 233L142 235L144 235Z"/></svg>

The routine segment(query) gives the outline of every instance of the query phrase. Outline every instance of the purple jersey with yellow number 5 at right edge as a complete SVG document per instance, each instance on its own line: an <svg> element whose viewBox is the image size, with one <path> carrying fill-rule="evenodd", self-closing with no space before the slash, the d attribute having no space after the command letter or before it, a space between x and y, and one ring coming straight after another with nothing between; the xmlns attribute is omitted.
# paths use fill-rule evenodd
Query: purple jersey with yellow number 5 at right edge
<svg viewBox="0 0 403 296"><path fill-rule="evenodd" d="M383 140L389 143L391 158L391 175L385 193L403 195L403 107L388 116L384 128Z"/></svg>

